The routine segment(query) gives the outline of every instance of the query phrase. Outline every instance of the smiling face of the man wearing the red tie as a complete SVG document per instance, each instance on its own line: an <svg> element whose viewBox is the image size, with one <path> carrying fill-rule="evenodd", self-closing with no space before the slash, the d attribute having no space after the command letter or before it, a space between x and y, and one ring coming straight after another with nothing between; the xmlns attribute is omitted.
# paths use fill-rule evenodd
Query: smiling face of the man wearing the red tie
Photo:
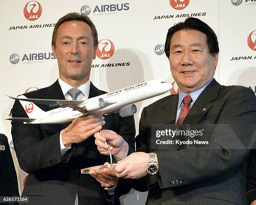
<svg viewBox="0 0 256 205"><path fill-rule="evenodd" d="M206 35L201 31L179 30L171 39L169 61L179 89L191 93L213 78L218 54L209 53Z"/></svg>

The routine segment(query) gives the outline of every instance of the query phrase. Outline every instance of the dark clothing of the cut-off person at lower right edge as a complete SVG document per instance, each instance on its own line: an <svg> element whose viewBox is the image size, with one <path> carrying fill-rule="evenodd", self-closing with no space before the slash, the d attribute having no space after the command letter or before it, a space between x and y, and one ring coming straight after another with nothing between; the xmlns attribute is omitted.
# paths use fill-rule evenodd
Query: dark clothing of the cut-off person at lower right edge
<svg viewBox="0 0 256 205"><path fill-rule="evenodd" d="M256 150L253 150L247 171L246 196L248 205L256 200Z"/></svg>

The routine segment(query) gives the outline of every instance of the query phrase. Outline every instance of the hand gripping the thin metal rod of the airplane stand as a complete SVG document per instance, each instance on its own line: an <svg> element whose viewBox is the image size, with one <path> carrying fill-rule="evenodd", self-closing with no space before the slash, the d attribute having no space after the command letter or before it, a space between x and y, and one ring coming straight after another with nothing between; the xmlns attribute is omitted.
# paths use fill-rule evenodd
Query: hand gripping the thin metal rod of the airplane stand
<svg viewBox="0 0 256 205"><path fill-rule="evenodd" d="M122 136L116 134L112 130L102 130L102 134L99 132L94 134L95 144L97 145L97 149L100 154L109 155L108 146L111 150L111 154L115 155L115 157L121 159L125 155L127 151L128 144L125 142ZM108 144L105 144L105 142Z"/></svg>

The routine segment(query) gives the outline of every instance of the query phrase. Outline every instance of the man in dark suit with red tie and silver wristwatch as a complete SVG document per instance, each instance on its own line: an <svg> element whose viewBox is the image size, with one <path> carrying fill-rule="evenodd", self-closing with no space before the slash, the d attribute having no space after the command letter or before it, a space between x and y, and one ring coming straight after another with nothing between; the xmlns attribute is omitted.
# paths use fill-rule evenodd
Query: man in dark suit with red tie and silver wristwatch
<svg viewBox="0 0 256 205"><path fill-rule="evenodd" d="M197 18L187 18L168 30L165 53L179 94L143 109L136 153L118 162L116 176L140 179L132 180L132 185L140 191L148 190L147 204L245 205L250 150L237 149L243 146L235 132L241 124L256 124L254 93L215 81L217 36ZM153 149L154 124L173 124L177 130L185 124L194 124L194 130L205 124L210 131L210 149L187 149L176 141L169 149ZM103 153L106 147L102 136L96 133L95 137Z"/></svg>

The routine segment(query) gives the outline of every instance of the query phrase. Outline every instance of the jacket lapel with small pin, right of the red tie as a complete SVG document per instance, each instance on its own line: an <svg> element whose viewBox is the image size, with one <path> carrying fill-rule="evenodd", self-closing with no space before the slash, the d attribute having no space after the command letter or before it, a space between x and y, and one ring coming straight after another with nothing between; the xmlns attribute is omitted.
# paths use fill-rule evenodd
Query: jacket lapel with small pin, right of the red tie
<svg viewBox="0 0 256 205"><path fill-rule="evenodd" d="M221 85L213 79L197 98L182 124L198 124L213 106L212 101L218 97L220 87Z"/></svg>

